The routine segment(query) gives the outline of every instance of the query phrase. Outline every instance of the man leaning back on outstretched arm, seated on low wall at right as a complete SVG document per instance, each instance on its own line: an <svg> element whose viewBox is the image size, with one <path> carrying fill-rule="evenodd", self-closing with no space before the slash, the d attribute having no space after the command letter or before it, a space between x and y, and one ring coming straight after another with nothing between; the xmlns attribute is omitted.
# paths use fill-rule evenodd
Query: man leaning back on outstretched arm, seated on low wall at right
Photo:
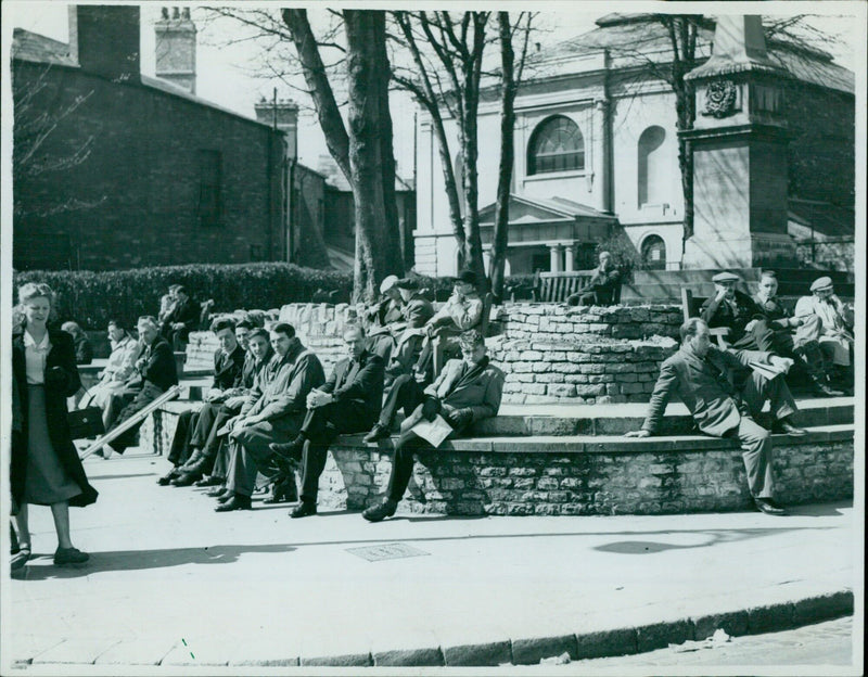
<svg viewBox="0 0 868 677"><path fill-rule="evenodd" d="M676 392L704 434L741 442L748 487L756 509L783 514L774 499L771 437L755 418L765 400L770 400L776 432L796 436L806 433L790 418L797 409L783 372L793 361L757 350L720 350L711 345L709 325L700 318L690 318L680 331L681 347L661 366L644 424L641 430L627 433L627 437L655 434L669 395ZM768 365L781 373L767 379L752 370L751 362Z"/></svg>

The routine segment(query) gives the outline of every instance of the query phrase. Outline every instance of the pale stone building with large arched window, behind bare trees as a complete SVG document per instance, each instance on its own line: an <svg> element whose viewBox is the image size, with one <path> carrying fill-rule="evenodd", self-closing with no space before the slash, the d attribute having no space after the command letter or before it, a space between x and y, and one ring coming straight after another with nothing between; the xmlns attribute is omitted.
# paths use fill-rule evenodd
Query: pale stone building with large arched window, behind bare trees
<svg viewBox="0 0 868 677"><path fill-rule="evenodd" d="M661 77L671 60L668 37L650 15L613 14L597 24L535 54L519 90L508 272L591 267L595 246L616 223L643 267L681 267L685 205L675 95ZM710 54L713 29L713 21L702 22L701 60ZM768 40L768 51L787 74L788 196L852 208L853 73L816 49ZM484 91L480 105L481 149L499 148L495 90ZM446 124L450 149L457 149L456 125ZM417 269L455 274L458 254L437 143L421 113L418 139ZM452 162L460 178L460 162ZM498 163L497 152L480 154L484 248L490 243ZM835 234L852 235L853 228L852 220L837 222Z"/></svg>

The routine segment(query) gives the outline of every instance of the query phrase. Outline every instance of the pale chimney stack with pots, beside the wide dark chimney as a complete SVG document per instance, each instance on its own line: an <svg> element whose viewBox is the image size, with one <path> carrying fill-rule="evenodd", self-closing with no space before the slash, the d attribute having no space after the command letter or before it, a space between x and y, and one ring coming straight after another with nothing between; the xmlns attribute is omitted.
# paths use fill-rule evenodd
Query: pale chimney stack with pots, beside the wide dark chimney
<svg viewBox="0 0 868 677"><path fill-rule="evenodd" d="M196 25L190 18L190 8L162 9L154 23L156 37L156 77L196 93Z"/></svg>

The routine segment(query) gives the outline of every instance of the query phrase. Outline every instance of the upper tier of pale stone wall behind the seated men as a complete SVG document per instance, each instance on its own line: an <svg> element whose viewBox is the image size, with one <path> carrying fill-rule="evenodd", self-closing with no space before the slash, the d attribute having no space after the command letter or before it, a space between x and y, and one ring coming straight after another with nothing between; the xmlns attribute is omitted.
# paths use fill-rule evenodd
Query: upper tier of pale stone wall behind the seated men
<svg viewBox="0 0 868 677"><path fill-rule="evenodd" d="M280 320L295 327L327 373L343 357L341 336L355 321L346 304L289 304ZM673 305L567 308L509 304L487 340L494 363L507 374L503 401L600 404L647 401L677 343L681 310ZM187 369L213 365L216 340L193 332Z"/></svg>

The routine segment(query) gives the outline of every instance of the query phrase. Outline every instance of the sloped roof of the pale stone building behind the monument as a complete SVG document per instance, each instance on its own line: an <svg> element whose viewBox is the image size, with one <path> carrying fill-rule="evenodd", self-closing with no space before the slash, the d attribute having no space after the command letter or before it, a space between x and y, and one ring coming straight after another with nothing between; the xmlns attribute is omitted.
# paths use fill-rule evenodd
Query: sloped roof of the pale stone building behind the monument
<svg viewBox="0 0 868 677"><path fill-rule="evenodd" d="M699 21L697 55L707 59L714 41L714 20L702 16ZM834 63L827 52L777 38L768 38L766 49L774 63L801 81L855 92L855 74ZM535 69L566 73L569 67L564 62L603 50L609 52L610 67L620 68L647 65L649 61L666 63L671 60L672 44L665 27L651 14L608 14L597 21L597 28L534 55Z"/></svg>

